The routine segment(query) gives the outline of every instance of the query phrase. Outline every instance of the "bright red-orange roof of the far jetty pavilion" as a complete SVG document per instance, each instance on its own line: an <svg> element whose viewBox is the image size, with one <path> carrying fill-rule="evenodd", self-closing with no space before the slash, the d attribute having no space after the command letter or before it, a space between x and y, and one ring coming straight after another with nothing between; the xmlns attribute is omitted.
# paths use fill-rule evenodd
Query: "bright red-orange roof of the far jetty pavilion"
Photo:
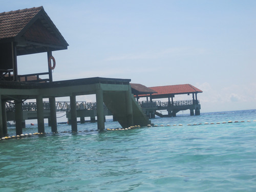
<svg viewBox="0 0 256 192"><path fill-rule="evenodd" d="M167 98L174 97L174 95L180 94L197 94L202 93L200 89L191 86L191 84L177 84L174 86L158 86L158 87L150 87L153 91L157 93L152 94L152 98ZM148 97L148 94L141 94L139 97Z"/></svg>

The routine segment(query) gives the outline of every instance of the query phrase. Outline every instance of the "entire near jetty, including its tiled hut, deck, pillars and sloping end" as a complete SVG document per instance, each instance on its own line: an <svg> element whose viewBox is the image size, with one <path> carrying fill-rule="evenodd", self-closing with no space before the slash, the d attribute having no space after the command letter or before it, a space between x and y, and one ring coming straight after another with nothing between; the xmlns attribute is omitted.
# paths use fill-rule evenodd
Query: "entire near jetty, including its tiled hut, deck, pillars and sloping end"
<svg viewBox="0 0 256 192"><path fill-rule="evenodd" d="M76 96L95 94L98 130L104 130L104 106L122 127L150 123L135 101L130 79L83 78L53 81L53 51L69 46L43 7L0 13L0 137L7 135L6 102L14 103L16 135L23 133L22 103L36 99L38 132L45 132L44 98L49 98L51 128L57 132L56 97L70 97L71 129L77 132ZM47 53L47 72L18 75L17 56ZM47 78L42 78L47 76Z"/></svg>

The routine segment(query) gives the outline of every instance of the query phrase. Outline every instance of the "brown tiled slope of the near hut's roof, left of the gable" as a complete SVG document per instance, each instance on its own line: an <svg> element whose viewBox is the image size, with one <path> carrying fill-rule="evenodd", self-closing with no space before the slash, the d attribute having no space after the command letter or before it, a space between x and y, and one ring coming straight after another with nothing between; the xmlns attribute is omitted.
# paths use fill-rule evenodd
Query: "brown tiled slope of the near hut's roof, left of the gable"
<svg viewBox="0 0 256 192"><path fill-rule="evenodd" d="M0 39L15 37L43 7L0 13Z"/></svg>

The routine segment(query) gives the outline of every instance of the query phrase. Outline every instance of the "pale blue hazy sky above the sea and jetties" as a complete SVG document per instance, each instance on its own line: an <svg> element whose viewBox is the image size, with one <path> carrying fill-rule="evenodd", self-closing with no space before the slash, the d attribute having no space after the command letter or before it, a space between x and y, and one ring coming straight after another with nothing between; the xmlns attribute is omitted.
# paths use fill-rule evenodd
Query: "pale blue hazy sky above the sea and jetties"
<svg viewBox="0 0 256 192"><path fill-rule="evenodd" d="M0 0L0 12L44 6L69 44L53 80L189 83L201 113L256 109L256 1ZM47 72L47 55L18 56L18 73ZM90 101L91 97L77 100ZM191 95L174 100L192 99Z"/></svg>

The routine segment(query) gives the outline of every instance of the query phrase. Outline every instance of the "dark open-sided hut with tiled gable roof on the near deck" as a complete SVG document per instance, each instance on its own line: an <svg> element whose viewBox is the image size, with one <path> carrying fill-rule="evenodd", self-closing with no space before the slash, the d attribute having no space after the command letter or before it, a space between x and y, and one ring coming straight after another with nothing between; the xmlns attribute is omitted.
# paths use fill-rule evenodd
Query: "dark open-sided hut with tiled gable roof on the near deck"
<svg viewBox="0 0 256 192"><path fill-rule="evenodd" d="M43 7L0 13L0 80L52 81L55 67L52 51L64 50L68 46ZM48 72L23 75L20 79L17 56L42 52L47 52ZM49 78L40 79L39 75L49 75Z"/></svg>

